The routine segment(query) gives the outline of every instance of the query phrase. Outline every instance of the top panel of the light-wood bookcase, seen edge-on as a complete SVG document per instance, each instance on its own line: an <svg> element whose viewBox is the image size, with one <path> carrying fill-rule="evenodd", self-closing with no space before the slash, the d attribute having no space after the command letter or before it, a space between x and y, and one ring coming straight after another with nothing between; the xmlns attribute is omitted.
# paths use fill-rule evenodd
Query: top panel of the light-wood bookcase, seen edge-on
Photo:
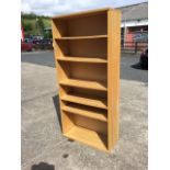
<svg viewBox="0 0 170 170"><path fill-rule="evenodd" d="M64 15L55 15L52 19L69 19L69 18L78 18L83 15L91 15L91 14L100 14L102 12L106 12L109 10L113 10L112 8L104 8L104 9L97 9L97 10L89 10L89 11L82 11L82 12L76 12L70 14L64 14Z"/></svg>

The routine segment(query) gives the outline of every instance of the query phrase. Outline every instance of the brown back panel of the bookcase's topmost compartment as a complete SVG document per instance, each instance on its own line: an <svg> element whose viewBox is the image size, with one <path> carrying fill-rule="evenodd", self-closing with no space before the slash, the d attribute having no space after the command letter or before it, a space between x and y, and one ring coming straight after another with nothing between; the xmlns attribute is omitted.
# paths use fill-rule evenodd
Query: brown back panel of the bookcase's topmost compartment
<svg viewBox="0 0 170 170"><path fill-rule="evenodd" d="M106 12L79 18L55 19L58 35L61 36L90 36L107 33Z"/></svg>

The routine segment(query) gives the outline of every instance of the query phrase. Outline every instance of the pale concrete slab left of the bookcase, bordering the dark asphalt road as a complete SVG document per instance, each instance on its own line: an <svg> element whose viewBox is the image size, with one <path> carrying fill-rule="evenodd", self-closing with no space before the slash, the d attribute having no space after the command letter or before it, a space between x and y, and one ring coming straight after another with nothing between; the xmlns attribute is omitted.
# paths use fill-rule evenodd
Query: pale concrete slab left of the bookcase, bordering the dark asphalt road
<svg viewBox="0 0 170 170"><path fill-rule="evenodd" d="M41 98L42 95L57 91L55 69L22 63L21 70L22 101L33 100L34 98Z"/></svg>

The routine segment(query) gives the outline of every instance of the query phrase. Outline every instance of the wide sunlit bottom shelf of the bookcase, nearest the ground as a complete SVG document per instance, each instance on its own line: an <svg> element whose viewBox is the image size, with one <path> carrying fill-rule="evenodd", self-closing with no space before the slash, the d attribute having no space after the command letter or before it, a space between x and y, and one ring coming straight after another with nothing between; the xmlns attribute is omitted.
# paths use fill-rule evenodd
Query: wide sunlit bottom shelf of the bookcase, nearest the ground
<svg viewBox="0 0 170 170"><path fill-rule="evenodd" d="M98 149L109 151L106 148L106 135L102 135L80 126L72 126L69 132L65 133L64 135Z"/></svg>

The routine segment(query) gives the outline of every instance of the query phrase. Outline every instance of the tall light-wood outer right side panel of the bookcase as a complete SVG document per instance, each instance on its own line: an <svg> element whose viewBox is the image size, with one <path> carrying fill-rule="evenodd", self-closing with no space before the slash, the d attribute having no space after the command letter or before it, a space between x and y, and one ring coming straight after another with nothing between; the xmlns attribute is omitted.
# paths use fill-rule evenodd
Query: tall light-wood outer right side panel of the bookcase
<svg viewBox="0 0 170 170"><path fill-rule="evenodd" d="M107 131L109 150L118 139L118 95L120 95L120 43L121 43L121 12L107 12Z"/></svg>

